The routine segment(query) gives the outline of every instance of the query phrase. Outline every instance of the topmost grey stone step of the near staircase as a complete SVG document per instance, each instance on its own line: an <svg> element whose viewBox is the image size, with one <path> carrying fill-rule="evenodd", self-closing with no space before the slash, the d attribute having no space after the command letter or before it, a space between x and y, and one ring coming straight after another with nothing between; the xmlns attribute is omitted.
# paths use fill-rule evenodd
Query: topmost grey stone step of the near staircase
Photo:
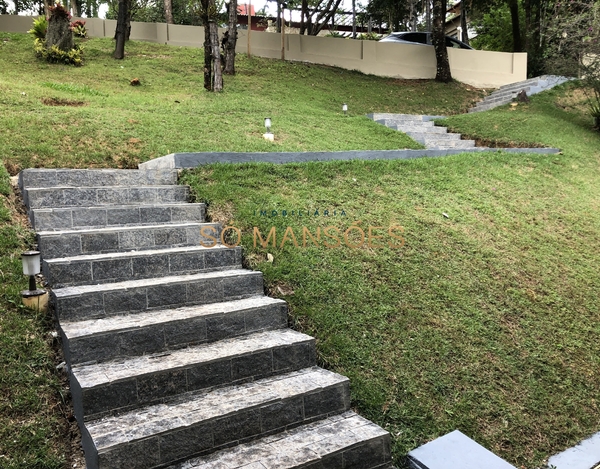
<svg viewBox="0 0 600 469"><path fill-rule="evenodd" d="M177 184L176 169L41 169L19 173L21 190L32 187L165 186Z"/></svg>

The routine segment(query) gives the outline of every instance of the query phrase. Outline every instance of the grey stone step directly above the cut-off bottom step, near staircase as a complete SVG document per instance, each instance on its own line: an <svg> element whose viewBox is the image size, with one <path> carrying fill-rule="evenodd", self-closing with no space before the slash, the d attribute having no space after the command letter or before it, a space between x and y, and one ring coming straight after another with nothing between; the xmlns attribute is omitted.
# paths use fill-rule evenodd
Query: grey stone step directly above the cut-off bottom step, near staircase
<svg viewBox="0 0 600 469"><path fill-rule="evenodd" d="M348 384L313 367L86 422L87 468L164 467L339 414L350 407Z"/></svg>

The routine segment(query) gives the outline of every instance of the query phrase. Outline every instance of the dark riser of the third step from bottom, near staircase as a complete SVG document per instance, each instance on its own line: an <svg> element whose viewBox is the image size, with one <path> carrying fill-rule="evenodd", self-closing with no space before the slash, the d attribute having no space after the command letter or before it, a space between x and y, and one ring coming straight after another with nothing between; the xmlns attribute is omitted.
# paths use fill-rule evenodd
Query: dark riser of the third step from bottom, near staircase
<svg viewBox="0 0 600 469"><path fill-rule="evenodd" d="M187 352L184 350L180 355L189 355ZM77 417L89 420L113 411L122 412L153 404L190 391L234 385L301 370L314 366L315 361L314 339L310 339L209 362L189 363L182 367L169 365L167 357L162 360L166 371L146 374L138 372L135 376L87 388L78 381L79 369L76 367L71 375L71 392L73 396L77 396L76 401L82 403L81 408L75 407Z"/></svg>

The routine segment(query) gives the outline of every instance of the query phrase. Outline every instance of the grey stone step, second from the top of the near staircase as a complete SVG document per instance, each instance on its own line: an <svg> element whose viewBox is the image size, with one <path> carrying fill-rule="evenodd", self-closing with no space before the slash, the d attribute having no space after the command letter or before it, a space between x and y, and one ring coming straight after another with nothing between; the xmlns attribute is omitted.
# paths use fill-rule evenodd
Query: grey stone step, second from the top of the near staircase
<svg viewBox="0 0 600 469"><path fill-rule="evenodd" d="M187 203L188 186L42 187L23 190L28 209Z"/></svg>

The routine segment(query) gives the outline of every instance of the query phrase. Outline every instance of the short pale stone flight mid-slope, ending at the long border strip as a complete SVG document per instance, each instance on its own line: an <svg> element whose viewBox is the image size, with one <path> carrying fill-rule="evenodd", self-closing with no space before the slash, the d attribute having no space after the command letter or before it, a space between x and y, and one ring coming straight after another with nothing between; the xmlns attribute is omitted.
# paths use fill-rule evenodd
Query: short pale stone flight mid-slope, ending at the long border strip
<svg viewBox="0 0 600 469"><path fill-rule="evenodd" d="M446 127L434 125L433 120L443 116L374 113L368 114L367 117L390 129L404 132L413 140L425 145L428 150L475 148L474 140L461 140L460 134L448 133Z"/></svg>

